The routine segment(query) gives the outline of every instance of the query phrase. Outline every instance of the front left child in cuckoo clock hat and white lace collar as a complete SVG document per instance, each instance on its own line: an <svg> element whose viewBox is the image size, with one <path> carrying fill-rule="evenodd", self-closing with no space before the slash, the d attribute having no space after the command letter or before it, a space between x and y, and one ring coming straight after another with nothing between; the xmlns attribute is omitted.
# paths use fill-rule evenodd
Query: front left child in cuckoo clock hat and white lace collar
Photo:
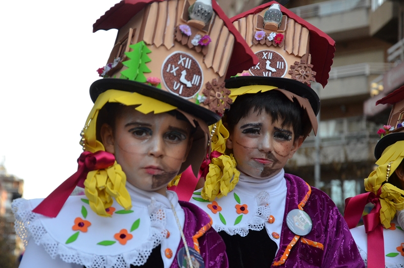
<svg viewBox="0 0 404 268"><path fill-rule="evenodd" d="M226 91L230 62L234 75L254 54L214 1L203 18L190 4L200 8L125 0L95 22L94 31L117 28L118 36L98 69L104 79L90 87L84 152L47 198L13 202L26 242L20 267L228 266L210 217L166 188L188 166L199 170L208 125L229 105L210 93ZM69 196L77 185L85 197Z"/></svg>

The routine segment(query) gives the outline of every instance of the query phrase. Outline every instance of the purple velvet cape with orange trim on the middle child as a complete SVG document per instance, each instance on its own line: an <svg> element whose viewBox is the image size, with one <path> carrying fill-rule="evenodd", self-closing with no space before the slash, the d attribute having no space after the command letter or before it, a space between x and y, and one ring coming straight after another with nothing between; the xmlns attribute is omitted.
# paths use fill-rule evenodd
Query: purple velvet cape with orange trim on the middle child
<svg viewBox="0 0 404 268"><path fill-rule="evenodd" d="M286 224L286 215L304 200L309 187L301 178L285 174L287 195L281 241L275 261L279 261L292 241L293 234ZM299 239L292 247L285 263L272 267L365 267L345 220L334 202L324 192L311 187L311 195L303 210L312 221L312 231L304 236L324 245L324 250L302 243Z"/></svg>

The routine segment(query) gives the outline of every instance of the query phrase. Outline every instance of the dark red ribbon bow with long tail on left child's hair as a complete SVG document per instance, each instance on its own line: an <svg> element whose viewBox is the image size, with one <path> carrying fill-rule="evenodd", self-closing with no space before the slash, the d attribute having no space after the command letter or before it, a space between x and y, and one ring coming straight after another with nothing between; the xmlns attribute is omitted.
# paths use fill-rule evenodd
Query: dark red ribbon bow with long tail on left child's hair
<svg viewBox="0 0 404 268"><path fill-rule="evenodd" d="M56 217L69 195L76 186L84 187L87 173L92 170L104 169L115 163L115 156L105 151L95 153L83 152L77 159L77 171L49 194L32 211L48 217Z"/></svg>

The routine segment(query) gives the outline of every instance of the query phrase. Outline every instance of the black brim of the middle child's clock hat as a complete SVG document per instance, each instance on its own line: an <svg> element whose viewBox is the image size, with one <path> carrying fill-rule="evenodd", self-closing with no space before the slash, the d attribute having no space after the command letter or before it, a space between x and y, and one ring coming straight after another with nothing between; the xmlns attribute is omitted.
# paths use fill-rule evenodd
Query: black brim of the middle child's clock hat
<svg viewBox="0 0 404 268"><path fill-rule="evenodd" d="M246 85L276 86L297 96L308 99L316 115L320 111L320 98L317 93L310 86L297 80L267 76L236 76L225 80L225 82L226 88L239 88Z"/></svg>

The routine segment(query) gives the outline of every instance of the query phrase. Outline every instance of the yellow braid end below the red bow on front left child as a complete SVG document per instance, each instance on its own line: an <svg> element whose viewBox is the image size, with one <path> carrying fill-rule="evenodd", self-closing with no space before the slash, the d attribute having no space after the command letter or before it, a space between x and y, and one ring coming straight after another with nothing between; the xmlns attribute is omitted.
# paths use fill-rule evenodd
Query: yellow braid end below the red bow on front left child
<svg viewBox="0 0 404 268"><path fill-rule="evenodd" d="M106 168L88 172L84 181L84 192L90 207L100 216L110 217L105 209L112 203L112 197L126 210L132 207L130 196L125 188L126 175L121 166L115 164Z"/></svg>

